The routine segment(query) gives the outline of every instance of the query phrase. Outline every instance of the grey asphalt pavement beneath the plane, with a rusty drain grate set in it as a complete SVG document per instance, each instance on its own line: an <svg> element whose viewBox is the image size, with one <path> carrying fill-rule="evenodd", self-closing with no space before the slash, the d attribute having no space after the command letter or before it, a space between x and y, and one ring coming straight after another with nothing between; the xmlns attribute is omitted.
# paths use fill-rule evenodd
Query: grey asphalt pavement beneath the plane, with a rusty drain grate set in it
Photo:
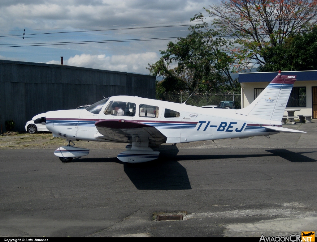
<svg viewBox="0 0 317 242"><path fill-rule="evenodd" d="M61 163L51 149L0 150L0 236L260 237L317 230L316 123L307 134L122 149ZM181 221L156 221L182 214Z"/></svg>

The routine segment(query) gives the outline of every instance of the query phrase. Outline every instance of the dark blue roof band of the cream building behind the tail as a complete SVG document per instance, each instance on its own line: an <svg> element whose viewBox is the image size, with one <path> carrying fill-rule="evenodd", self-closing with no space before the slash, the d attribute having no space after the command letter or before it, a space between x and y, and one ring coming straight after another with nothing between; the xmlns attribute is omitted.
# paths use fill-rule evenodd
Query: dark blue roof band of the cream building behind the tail
<svg viewBox="0 0 317 242"><path fill-rule="evenodd" d="M275 72L239 73L239 82L270 82L278 74ZM297 81L316 81L317 71L281 71L282 75L296 75Z"/></svg>

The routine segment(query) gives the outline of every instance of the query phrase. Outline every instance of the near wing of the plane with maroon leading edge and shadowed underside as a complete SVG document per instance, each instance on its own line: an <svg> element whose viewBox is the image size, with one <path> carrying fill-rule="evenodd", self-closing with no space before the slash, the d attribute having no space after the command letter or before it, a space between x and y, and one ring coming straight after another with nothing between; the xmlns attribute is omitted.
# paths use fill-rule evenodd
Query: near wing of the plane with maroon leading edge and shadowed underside
<svg viewBox="0 0 317 242"><path fill-rule="evenodd" d="M158 141L166 140L166 136L157 128L131 120L100 120L95 123L101 139L132 143L132 141Z"/></svg>

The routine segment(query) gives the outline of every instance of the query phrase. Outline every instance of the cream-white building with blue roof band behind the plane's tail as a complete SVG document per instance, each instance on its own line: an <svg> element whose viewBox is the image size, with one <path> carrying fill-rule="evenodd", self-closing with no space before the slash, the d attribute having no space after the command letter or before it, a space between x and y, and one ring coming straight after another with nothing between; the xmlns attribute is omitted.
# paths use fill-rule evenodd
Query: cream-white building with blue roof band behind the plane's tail
<svg viewBox="0 0 317 242"><path fill-rule="evenodd" d="M278 72L239 73L241 84L241 107L247 107L264 88L277 76ZM295 115L312 115L317 118L317 71L282 71L282 75L296 75L288 108L298 108ZM287 112L284 113L287 115Z"/></svg>

